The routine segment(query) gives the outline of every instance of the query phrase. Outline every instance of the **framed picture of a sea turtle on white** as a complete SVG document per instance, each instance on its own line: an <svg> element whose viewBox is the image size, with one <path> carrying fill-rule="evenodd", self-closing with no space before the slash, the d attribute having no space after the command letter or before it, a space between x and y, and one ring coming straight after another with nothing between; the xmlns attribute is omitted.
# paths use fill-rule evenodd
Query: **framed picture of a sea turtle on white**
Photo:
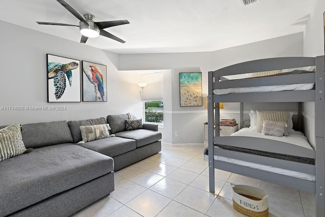
<svg viewBox="0 0 325 217"><path fill-rule="evenodd" d="M81 102L80 60L46 54L47 102Z"/></svg>

